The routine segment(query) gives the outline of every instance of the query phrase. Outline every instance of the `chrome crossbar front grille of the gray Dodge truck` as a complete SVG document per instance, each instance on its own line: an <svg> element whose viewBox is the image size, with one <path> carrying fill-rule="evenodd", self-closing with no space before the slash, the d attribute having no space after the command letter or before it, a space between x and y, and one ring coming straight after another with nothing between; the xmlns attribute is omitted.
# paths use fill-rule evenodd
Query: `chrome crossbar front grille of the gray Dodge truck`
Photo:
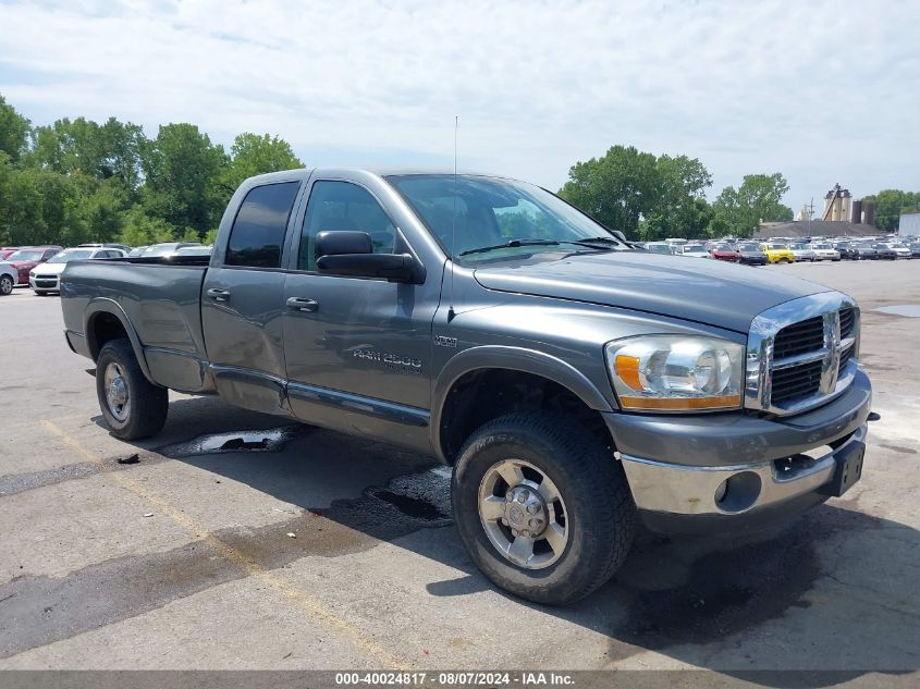
<svg viewBox="0 0 920 689"><path fill-rule="evenodd" d="M859 309L836 292L794 299L753 319L745 406L797 414L846 390L859 355Z"/></svg>

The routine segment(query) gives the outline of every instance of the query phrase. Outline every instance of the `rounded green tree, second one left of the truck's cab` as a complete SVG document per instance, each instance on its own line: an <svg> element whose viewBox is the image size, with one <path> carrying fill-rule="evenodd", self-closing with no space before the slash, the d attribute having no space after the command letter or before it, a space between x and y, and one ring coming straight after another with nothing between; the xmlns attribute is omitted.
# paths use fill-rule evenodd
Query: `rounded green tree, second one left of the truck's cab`
<svg viewBox="0 0 920 689"><path fill-rule="evenodd" d="M218 223L228 199L218 183L229 162L222 146L194 124L168 124L145 146L142 160L148 216L181 231L194 227L199 235Z"/></svg>

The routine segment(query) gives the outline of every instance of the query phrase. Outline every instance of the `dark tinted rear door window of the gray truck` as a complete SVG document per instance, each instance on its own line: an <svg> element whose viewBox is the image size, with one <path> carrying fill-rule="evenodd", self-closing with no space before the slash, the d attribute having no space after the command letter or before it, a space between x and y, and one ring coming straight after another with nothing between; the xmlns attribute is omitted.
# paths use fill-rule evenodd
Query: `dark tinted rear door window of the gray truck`
<svg viewBox="0 0 920 689"><path fill-rule="evenodd" d="M249 189L230 231L226 266L281 267L281 246L298 185L284 182Z"/></svg>

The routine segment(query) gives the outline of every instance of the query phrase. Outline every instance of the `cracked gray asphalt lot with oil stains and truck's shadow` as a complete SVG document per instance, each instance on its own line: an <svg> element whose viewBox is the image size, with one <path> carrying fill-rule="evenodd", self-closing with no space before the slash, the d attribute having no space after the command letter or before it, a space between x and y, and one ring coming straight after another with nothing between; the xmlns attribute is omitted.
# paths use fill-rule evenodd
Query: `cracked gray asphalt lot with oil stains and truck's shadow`
<svg viewBox="0 0 920 689"><path fill-rule="evenodd" d="M920 319L887 308L920 305L920 261L750 270L859 300L881 415L862 480L775 533L645 534L613 581L563 608L476 570L430 457L179 394L157 438L112 438L58 297L0 297L0 668L920 680L904 674L920 667Z"/></svg>

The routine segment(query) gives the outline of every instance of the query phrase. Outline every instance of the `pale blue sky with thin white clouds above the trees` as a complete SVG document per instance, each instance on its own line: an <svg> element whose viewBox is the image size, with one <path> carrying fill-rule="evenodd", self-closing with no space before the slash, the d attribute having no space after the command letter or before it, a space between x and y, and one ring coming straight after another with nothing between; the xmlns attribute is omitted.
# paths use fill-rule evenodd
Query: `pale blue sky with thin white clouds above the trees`
<svg viewBox="0 0 920 689"><path fill-rule="evenodd" d="M920 190L920 2L10 2L0 94L34 124L192 122L309 167L458 164L559 188L622 144L699 158L710 198L782 172Z"/></svg>

